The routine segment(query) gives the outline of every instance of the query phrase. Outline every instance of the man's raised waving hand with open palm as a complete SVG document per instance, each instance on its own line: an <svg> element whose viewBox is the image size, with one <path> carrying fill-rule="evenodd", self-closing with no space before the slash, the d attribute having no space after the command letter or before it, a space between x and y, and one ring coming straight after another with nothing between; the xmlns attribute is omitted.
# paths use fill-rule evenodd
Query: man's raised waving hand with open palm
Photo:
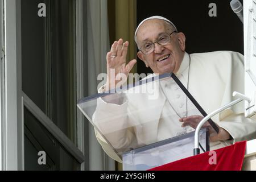
<svg viewBox="0 0 256 182"><path fill-rule="evenodd" d="M127 80L127 76L129 72L133 68L134 64L137 62L134 59L129 61L128 64L126 64L126 55L127 55L128 46L129 46L129 42L123 43L123 40L119 39L118 41L115 41L112 44L110 52L108 52L106 55L107 74L108 74L108 80L106 82L106 85L108 86L108 89L114 89L119 81L122 81L122 82L124 81L124 80L116 79L121 77L120 76L121 74L124 74ZM110 76L110 73L112 73L111 76Z"/></svg>

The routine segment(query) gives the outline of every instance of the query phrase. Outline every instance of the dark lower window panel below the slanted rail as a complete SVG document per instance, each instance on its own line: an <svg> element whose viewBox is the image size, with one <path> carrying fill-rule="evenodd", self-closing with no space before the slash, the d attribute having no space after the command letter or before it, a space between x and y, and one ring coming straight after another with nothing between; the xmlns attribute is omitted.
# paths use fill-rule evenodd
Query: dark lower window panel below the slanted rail
<svg viewBox="0 0 256 182"><path fill-rule="evenodd" d="M39 151L46 152L46 165L40 165ZM43 162L43 158L39 159ZM25 170L80 170L80 163L24 107L24 168Z"/></svg>

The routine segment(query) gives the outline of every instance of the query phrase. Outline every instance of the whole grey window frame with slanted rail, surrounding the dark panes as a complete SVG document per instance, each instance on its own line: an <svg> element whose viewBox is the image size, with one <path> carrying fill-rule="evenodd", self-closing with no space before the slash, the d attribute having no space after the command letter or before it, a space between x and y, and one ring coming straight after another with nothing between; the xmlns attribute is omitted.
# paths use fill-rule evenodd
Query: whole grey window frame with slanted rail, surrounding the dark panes
<svg viewBox="0 0 256 182"><path fill-rule="evenodd" d="M21 67L21 5L20 0L0 0L3 7L0 10L0 48L3 47L4 53L0 62L0 170L24 170L24 119L23 108L26 106L35 116L37 116L48 131L64 146L64 148L81 163L81 170L84 169L84 128L77 134L79 140L78 148L59 130L50 119L40 112L40 109L33 107L33 102L22 92L22 67ZM76 0L76 9L80 9L81 0ZM82 9L76 12L80 14ZM76 28L81 28L82 19ZM7 31L8 30L8 31ZM81 31L82 30L78 30ZM81 35L80 35L81 37ZM80 40L79 37L76 40ZM80 40L76 44L77 49L81 46ZM79 63L82 64L82 47L79 52ZM77 69L76 68L76 69ZM4 74L3 74L4 73ZM77 83L77 97L83 93L83 71L77 73L79 81ZM82 85L80 85L82 84ZM76 90L76 88L74 88ZM78 111L77 111L78 113ZM84 125L84 120L80 114L80 126ZM81 151L82 152L81 152Z"/></svg>

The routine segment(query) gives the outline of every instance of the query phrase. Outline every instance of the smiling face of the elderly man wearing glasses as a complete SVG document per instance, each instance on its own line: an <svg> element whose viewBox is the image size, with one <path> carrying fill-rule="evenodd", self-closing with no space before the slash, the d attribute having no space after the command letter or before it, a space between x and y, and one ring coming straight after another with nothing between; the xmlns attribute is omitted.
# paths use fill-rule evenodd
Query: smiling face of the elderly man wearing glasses
<svg viewBox="0 0 256 182"><path fill-rule="evenodd" d="M151 19L142 24L137 32L138 47L145 42L155 42L163 32L170 34L174 30L167 27L164 20ZM171 42L166 46L155 43L155 49L148 55L138 52L138 57L143 60L146 67L150 67L154 73L177 73L185 52L185 35L174 33ZM163 59L165 58L165 59Z"/></svg>

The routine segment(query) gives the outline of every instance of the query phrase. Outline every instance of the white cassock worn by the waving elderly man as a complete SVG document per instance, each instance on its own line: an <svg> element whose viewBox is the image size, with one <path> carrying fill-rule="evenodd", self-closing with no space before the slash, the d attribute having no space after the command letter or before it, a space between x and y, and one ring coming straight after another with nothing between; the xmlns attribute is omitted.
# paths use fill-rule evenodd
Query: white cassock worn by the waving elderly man
<svg viewBox="0 0 256 182"><path fill-rule="evenodd" d="M189 93L208 114L232 102L234 91L244 93L243 56L240 53L217 51L193 53L190 56L189 65L189 55L185 53L176 76L186 88L189 80ZM187 111L188 115L195 115L186 110L186 107L190 107L189 104L187 106L186 97L182 96L180 92L175 92L178 88L174 85L172 83L164 84L163 82L162 90L165 95L160 91L158 100L148 100L145 94L127 94L121 105L108 104L102 99L98 99L93 122L97 123L97 121L112 118L112 124L105 130L113 128L119 130L114 136L108 138L112 140L114 147L117 148L129 146L135 140L138 144L150 144L174 137L184 131L178 121L179 117L185 117ZM102 92L102 90L100 89L99 92ZM180 113L179 117L176 115L174 119L175 111L168 100L175 100L172 103L178 109L175 110ZM243 108L243 102L241 102L212 118L218 126L229 132L233 138L232 142L256 138L256 122L244 118ZM121 130L129 127L129 125L133 128L126 131ZM104 127L102 125L101 130L104 130ZM187 132L192 130L189 127ZM97 131L96 137L104 151L113 159L121 162ZM230 141L211 143L210 150L228 144L230 144Z"/></svg>

